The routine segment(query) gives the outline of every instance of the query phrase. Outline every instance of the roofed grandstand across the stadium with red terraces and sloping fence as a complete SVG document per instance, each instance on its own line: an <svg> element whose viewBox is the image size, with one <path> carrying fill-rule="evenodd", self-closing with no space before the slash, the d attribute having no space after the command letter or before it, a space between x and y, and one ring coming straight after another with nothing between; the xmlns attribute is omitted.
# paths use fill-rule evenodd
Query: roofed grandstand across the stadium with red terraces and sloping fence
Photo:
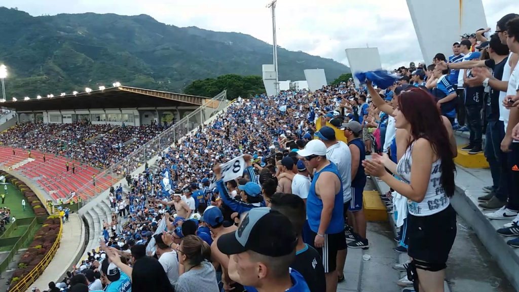
<svg viewBox="0 0 519 292"><path fill-rule="evenodd" d="M126 174L142 172L155 154L226 105L225 91L209 99L124 86L4 102L18 123L0 133L0 168L30 185L42 201L77 202L84 225L79 230L87 231L81 250L90 250L99 244L103 220L111 221L108 189ZM85 149L90 156L78 154ZM66 259L75 264L82 254Z"/></svg>

